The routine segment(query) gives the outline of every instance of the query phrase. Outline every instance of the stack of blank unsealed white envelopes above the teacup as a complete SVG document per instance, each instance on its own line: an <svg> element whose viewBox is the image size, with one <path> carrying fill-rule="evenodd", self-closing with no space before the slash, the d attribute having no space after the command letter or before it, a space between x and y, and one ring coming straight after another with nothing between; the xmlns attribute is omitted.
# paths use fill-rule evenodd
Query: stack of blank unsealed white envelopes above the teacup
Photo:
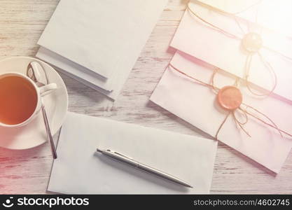
<svg viewBox="0 0 292 210"><path fill-rule="evenodd" d="M36 54L116 99L167 0L61 0Z"/></svg>

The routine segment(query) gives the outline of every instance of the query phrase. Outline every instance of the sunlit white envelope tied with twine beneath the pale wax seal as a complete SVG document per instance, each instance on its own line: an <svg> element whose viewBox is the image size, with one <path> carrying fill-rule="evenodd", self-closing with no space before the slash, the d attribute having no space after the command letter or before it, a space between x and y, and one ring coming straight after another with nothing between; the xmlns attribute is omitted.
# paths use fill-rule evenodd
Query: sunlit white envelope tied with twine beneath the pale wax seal
<svg viewBox="0 0 292 210"><path fill-rule="evenodd" d="M224 31L228 31L229 34L235 35L237 38L230 37L218 31L218 29L210 27L190 13L189 10L186 10L171 43L172 47L202 59L235 76L244 78L247 54L242 48L242 38L244 33L248 32L261 34L264 48L261 48L259 52L263 59L270 63L277 75L277 86L274 93L283 97L283 99L292 101L291 38L258 27L252 22L224 15L218 10L202 5L197 1L191 1L189 5L200 18ZM265 90L272 90L274 85L272 73L258 54L253 55L249 81Z"/></svg>

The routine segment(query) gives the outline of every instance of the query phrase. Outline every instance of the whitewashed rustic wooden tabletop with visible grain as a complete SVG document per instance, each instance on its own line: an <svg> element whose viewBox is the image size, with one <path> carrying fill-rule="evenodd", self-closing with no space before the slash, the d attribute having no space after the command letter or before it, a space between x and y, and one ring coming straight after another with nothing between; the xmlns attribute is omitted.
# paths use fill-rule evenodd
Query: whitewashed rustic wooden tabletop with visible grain
<svg viewBox="0 0 292 210"><path fill-rule="evenodd" d="M0 59L21 55L33 57L39 48L36 42L58 1L0 0ZM62 75L69 91L69 111L200 135L195 127L149 102L155 85L173 56L174 50L168 45L187 1L169 1L114 104L102 94ZM51 165L49 144L28 151L0 148L0 193L48 193L46 188ZM291 177L291 157L287 158L276 176L228 146L219 144L211 193L288 194L292 193Z"/></svg>

